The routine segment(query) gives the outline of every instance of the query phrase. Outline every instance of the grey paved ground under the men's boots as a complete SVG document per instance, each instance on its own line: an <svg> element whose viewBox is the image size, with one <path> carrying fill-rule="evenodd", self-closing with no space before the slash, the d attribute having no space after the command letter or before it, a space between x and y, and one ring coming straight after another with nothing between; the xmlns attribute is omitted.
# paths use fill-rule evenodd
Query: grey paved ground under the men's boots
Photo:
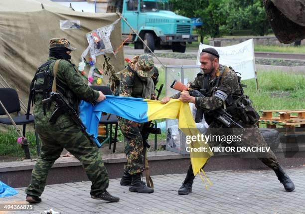
<svg viewBox="0 0 305 214"><path fill-rule="evenodd" d="M53 208L62 214L304 214L305 167L286 170L296 185L292 193L284 191L271 170L207 172L213 186L205 190L197 176L193 193L188 196L177 195L185 174L153 176L153 194L131 193L128 187L120 186L120 179L112 179L108 190L121 198L118 203L91 199L90 182L49 185L42 195L43 202L28 213ZM1 198L0 203L23 201L24 189L18 188L18 195Z"/></svg>

